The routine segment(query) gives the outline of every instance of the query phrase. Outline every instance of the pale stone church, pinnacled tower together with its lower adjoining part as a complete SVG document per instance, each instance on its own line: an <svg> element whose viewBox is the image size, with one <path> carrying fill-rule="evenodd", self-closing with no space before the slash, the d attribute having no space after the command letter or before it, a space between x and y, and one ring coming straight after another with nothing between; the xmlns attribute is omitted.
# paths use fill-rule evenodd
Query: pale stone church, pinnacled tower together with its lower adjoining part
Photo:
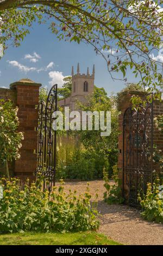
<svg viewBox="0 0 163 256"><path fill-rule="evenodd" d="M72 92L71 96L58 102L59 106L70 107L70 110L77 109L77 101L86 103L89 99L88 96L93 93L95 81L95 65L93 65L93 71L90 75L89 68L87 68L86 74L80 74L79 63L77 66L77 74L74 74L74 68L72 66Z"/></svg>

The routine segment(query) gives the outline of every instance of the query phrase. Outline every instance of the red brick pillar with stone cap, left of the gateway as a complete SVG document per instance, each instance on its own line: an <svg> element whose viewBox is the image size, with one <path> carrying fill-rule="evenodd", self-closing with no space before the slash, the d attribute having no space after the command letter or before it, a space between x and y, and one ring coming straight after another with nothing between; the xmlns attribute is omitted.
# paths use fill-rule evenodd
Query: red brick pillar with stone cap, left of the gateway
<svg viewBox="0 0 163 256"><path fill-rule="evenodd" d="M18 82L10 84L11 89L16 89L18 106L18 119L20 125L18 131L24 133L22 148L20 149L21 158L15 162L15 176L21 179L30 180L35 178L36 154L34 150L37 148L37 127L38 111L35 108L39 103L39 87L40 83L35 83L28 79L22 79Z"/></svg>

